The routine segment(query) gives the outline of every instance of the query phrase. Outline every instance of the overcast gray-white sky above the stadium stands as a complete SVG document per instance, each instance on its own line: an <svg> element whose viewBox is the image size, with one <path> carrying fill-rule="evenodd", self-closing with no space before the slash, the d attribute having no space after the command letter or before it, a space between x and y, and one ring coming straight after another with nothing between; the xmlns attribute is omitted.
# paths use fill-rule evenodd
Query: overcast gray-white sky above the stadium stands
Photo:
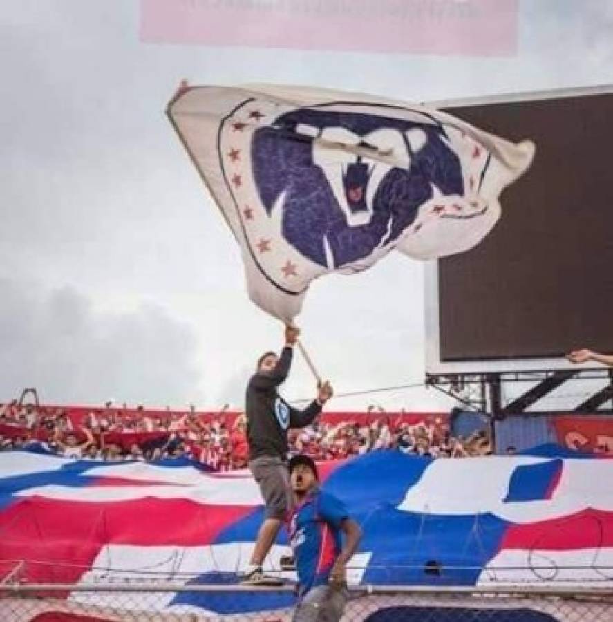
<svg viewBox="0 0 613 622"><path fill-rule="evenodd" d="M3 0L0 402L35 386L48 403L241 407L281 327L247 298L234 238L164 116L180 80L409 101L613 82L613 1L519 6L516 55L455 57L147 44L138 1ZM299 324L338 392L422 381L423 271L390 254L312 285ZM313 384L296 359L285 396ZM332 407L372 402L450 404L411 389Z"/></svg>

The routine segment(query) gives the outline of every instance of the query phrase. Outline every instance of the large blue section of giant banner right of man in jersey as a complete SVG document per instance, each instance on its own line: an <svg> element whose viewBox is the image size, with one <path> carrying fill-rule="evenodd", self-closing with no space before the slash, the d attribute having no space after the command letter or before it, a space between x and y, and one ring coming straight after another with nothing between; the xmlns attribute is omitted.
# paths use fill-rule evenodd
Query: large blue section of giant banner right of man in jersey
<svg viewBox="0 0 613 622"><path fill-rule="evenodd" d="M364 531L359 550L372 552L364 583L475 585L498 552L509 523L496 516L397 509L432 462L400 451L374 451L340 466L324 484L346 502Z"/></svg>

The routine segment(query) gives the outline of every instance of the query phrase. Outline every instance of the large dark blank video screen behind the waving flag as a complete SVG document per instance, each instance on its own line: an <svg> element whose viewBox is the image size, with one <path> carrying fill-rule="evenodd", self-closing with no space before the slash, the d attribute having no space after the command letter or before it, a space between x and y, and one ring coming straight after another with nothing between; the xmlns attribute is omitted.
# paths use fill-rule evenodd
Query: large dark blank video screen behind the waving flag
<svg viewBox="0 0 613 622"><path fill-rule="evenodd" d="M613 94L447 110L536 157L493 232L438 262L440 361L613 352Z"/></svg>

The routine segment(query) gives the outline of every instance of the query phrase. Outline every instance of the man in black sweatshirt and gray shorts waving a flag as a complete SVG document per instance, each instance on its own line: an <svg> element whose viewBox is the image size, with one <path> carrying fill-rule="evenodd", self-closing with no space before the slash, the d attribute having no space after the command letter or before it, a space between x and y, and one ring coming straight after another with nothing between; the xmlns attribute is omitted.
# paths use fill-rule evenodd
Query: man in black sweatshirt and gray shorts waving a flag
<svg viewBox="0 0 613 622"><path fill-rule="evenodd" d="M265 352L258 359L256 373L247 386L245 410L249 469L259 484L266 506L265 520L258 532L254 552L243 578L243 583L247 585L275 583L274 578L263 574L262 565L287 513L293 507L286 466L287 431L308 426L321 412L323 404L332 397L332 387L328 382L319 386L317 398L304 411L292 408L279 397L276 388L290 371L293 348L299 334L295 326L286 326L285 347L281 357L274 352Z"/></svg>

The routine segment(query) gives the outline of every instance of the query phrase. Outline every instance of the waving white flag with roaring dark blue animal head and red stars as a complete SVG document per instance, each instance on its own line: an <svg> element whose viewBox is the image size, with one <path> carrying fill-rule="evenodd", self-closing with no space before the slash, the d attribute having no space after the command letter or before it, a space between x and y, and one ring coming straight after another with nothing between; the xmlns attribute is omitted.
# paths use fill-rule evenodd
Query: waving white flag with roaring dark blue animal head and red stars
<svg viewBox="0 0 613 622"><path fill-rule="evenodd" d="M392 249L472 248L534 154L424 106L307 88L183 88L168 114L241 247L249 296L283 321L323 274Z"/></svg>

